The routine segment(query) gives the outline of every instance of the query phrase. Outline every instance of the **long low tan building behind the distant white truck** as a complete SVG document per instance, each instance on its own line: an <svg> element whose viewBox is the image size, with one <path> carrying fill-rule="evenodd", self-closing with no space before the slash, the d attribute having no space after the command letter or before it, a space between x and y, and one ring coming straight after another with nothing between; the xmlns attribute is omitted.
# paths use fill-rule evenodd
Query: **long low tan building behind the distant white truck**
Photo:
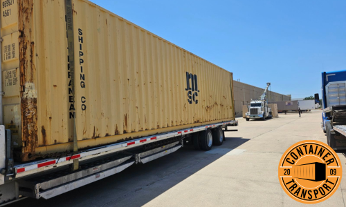
<svg viewBox="0 0 346 207"><path fill-rule="evenodd" d="M236 117L242 117L243 105L248 105L251 99L260 99L260 96L264 92L266 83L263 83L263 88L251 86L246 83L233 81L235 92L235 112ZM269 88L270 89L270 88ZM290 95L282 95L277 92L268 91L266 100L269 101L291 101Z"/></svg>

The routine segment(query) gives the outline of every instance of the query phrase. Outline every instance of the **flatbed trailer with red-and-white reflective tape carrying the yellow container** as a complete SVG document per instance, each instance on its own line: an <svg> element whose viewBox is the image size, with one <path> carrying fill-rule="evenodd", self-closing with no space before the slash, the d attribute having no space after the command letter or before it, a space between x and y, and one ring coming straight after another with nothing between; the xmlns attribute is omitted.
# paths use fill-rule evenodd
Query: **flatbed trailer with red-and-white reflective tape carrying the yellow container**
<svg viewBox="0 0 346 207"><path fill-rule="evenodd" d="M95 181L122 172L134 164L169 155L185 145L210 150L221 145L228 126L238 121L186 128L155 136L143 137L118 144L84 150L75 155L42 159L26 164L15 164L11 153L11 132L0 126L0 206L31 197L51 199ZM230 130L234 131L234 130ZM212 140L210 140L212 139ZM79 170L72 170L73 160L80 162Z"/></svg>

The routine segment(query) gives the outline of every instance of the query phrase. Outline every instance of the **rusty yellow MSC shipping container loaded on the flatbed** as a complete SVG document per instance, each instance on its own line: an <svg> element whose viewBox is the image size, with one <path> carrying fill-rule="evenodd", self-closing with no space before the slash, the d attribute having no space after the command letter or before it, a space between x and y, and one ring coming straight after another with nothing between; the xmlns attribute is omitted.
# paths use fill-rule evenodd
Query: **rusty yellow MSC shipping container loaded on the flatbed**
<svg viewBox="0 0 346 207"><path fill-rule="evenodd" d="M4 122L22 161L71 151L74 117L80 149L234 119L232 73L84 0L73 99L65 2L1 3Z"/></svg>

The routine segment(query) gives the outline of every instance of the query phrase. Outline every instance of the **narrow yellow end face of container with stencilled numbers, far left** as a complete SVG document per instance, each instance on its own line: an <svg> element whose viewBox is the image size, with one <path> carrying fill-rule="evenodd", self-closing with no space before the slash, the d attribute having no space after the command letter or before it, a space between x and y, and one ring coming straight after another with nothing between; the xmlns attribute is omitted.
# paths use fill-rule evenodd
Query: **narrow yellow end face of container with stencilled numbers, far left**
<svg viewBox="0 0 346 207"><path fill-rule="evenodd" d="M1 73L3 92L3 124L12 131L12 144L15 148L26 146L22 140L21 116L30 117L30 110L21 110L21 91L25 83L21 77L20 55L23 47L19 32L19 2L1 0ZM21 50L20 50L21 49ZM30 96L30 95L28 95ZM28 114L27 114L28 113Z"/></svg>

